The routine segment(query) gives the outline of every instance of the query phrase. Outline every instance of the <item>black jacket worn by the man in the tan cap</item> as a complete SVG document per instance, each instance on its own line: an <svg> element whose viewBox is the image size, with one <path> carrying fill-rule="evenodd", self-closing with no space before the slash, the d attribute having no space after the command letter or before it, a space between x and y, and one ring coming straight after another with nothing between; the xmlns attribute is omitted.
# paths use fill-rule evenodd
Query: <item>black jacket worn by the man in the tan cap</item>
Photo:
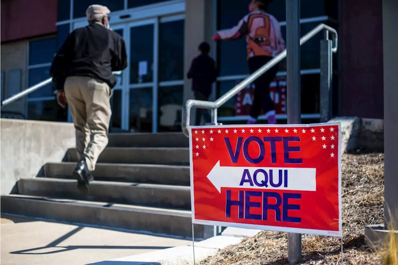
<svg viewBox="0 0 398 265"><path fill-rule="evenodd" d="M68 35L53 59L50 74L57 90L63 90L68 76L90 76L113 88L117 79L112 72L126 67L123 38L103 25L94 23L75 29Z"/></svg>

